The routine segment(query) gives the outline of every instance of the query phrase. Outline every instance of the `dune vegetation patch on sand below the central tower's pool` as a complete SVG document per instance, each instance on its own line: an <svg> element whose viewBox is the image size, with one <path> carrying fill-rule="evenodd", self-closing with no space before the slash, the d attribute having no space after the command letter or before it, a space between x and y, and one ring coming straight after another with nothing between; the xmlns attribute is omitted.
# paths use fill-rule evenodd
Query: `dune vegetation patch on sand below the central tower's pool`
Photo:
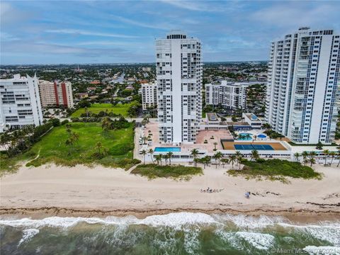
<svg viewBox="0 0 340 255"><path fill-rule="evenodd" d="M131 174L140 174L148 179L173 178L189 180L191 176L203 174L203 171L200 167L194 166L140 164L131 171Z"/></svg>

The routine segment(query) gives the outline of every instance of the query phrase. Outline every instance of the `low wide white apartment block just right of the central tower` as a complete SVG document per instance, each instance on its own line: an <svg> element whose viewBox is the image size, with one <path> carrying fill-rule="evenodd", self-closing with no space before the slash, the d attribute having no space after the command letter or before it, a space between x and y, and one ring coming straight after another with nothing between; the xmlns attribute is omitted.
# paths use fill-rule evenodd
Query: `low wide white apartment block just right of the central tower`
<svg viewBox="0 0 340 255"><path fill-rule="evenodd" d="M227 109L246 108L247 83L221 81L220 84L205 84L205 103L222 105Z"/></svg>

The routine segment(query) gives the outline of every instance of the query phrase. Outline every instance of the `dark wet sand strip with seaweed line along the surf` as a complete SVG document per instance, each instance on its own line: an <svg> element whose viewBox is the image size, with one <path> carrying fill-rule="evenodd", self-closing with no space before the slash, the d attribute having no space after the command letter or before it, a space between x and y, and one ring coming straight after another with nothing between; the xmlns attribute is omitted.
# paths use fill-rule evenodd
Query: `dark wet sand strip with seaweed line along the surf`
<svg viewBox="0 0 340 255"><path fill-rule="evenodd" d="M290 220L300 219L303 222L306 220L340 220L340 209L339 210L317 210L316 209L302 209L302 208L288 208L288 209L262 209L254 208L249 210L237 210L233 208L214 208L211 210L207 209L191 209L191 208L172 208L172 209L150 209L150 210L101 210L101 209L86 209L86 208L57 208L57 207L46 207L46 208L0 208L0 217L30 217L32 219L42 219L45 217L125 217L135 216L139 219L145 218L151 215L167 215L169 213L176 212L201 212L208 215L212 214L231 214L231 215L246 215L250 217L256 216L282 216Z"/></svg>

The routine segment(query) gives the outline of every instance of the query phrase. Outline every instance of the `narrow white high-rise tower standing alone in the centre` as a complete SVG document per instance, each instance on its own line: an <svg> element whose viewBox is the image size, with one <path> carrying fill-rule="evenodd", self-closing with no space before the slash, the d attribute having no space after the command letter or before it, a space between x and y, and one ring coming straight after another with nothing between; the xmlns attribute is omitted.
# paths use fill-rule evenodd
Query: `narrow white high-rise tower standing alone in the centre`
<svg viewBox="0 0 340 255"><path fill-rule="evenodd" d="M156 40L159 141L194 143L202 117L200 40L172 30Z"/></svg>

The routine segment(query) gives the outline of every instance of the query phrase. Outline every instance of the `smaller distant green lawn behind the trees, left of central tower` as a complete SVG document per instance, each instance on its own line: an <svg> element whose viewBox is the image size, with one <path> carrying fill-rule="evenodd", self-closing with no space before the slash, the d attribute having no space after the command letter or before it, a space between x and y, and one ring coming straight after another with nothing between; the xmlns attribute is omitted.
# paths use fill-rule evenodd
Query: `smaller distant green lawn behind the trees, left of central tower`
<svg viewBox="0 0 340 255"><path fill-rule="evenodd" d="M130 108L131 103L118 104L117 106L112 106L111 103L93 103L91 107L88 108L88 111L91 113L98 114L101 111L113 112L115 114L121 114L124 117L128 116L128 109ZM77 111L72 113L71 117L77 118L80 117L81 113L86 113L85 108L79 108Z"/></svg>

